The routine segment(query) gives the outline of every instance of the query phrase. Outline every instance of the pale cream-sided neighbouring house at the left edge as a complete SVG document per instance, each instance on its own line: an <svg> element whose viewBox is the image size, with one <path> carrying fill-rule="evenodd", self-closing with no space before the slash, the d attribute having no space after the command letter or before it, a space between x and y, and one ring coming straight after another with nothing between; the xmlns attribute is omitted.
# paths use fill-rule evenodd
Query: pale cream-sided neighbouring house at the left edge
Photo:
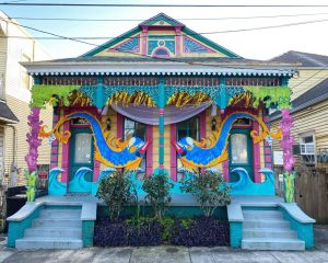
<svg viewBox="0 0 328 263"><path fill-rule="evenodd" d="M26 168L27 115L32 78L21 61L51 59L50 55L17 22L0 11L0 181L23 184ZM51 127L50 110L42 112ZM43 142L39 163L49 164L50 147Z"/></svg>

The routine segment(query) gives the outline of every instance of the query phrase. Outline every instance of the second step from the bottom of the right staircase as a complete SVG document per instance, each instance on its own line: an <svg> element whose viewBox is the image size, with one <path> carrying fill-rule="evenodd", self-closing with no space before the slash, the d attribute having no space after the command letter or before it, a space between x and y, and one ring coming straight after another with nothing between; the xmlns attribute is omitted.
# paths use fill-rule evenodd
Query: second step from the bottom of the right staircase
<svg viewBox="0 0 328 263"><path fill-rule="evenodd" d="M243 230L243 238L296 239L297 232L288 228L247 228Z"/></svg>

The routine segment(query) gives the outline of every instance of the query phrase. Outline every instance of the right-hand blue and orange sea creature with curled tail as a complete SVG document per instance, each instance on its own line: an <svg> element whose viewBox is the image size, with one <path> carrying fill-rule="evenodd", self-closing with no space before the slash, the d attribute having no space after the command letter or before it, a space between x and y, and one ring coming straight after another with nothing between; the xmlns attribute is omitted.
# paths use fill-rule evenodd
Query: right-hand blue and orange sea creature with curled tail
<svg viewBox="0 0 328 263"><path fill-rule="evenodd" d="M267 136L273 139L281 139L282 133L277 127L276 133L269 130L268 126L258 116L248 112L234 112L227 115L221 123L213 137L196 141L190 137L184 137L178 142L172 141L183 165L189 171L197 171L198 168L210 168L227 159L227 139L230 130L238 118L257 121L262 127L262 133L250 132L254 144L262 141Z"/></svg>

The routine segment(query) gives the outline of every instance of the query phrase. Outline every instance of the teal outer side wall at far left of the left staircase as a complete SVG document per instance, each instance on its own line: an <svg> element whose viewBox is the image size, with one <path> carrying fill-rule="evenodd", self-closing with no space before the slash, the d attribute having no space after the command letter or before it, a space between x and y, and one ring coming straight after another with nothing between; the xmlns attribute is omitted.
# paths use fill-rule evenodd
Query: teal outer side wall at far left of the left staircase
<svg viewBox="0 0 328 263"><path fill-rule="evenodd" d="M38 218L39 211L44 208L45 206L37 207L28 217L21 221L9 221L7 239L8 247L15 248L16 240L24 237L25 229L32 226L32 221Z"/></svg>

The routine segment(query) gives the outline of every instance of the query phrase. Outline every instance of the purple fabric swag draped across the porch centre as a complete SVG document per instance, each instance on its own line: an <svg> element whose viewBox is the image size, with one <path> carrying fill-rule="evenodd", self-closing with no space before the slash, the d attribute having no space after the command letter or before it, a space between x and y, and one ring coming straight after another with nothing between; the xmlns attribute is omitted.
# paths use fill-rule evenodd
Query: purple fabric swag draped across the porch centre
<svg viewBox="0 0 328 263"><path fill-rule="evenodd" d="M164 111L164 124L175 124L184 122L201 112L207 110L211 105L211 102L201 103L198 106L187 105L184 107L166 106ZM147 106L122 106L112 104L114 111L119 114L127 116L136 122L159 125L159 108L157 107L147 107Z"/></svg>

